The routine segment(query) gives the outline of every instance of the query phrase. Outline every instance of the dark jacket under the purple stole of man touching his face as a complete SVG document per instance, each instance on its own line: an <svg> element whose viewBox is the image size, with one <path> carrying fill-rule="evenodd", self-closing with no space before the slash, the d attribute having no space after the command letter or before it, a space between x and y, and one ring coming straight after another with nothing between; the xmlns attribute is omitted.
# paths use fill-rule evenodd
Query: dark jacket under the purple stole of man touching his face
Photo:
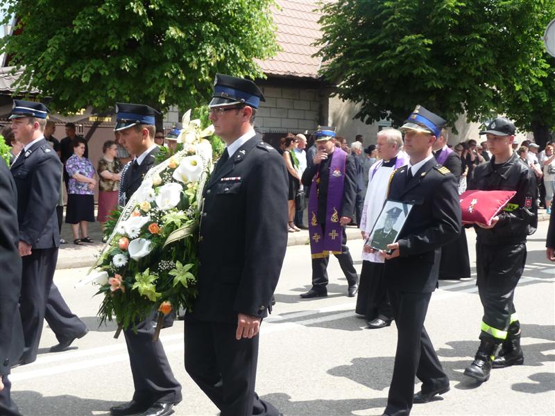
<svg viewBox="0 0 555 416"><path fill-rule="evenodd" d="M302 184L310 188L312 183L312 178L316 175L318 169L320 169L320 183L318 184L318 212L316 213L316 218L318 223L325 224L325 214L327 209L327 187L330 184L330 163L332 162L332 157L337 153L332 153L330 157L323 160L319 164L313 164L307 167L302 173L301 182ZM352 213L355 212L355 198L357 196L357 171L355 168L355 160L351 155L347 155L345 160L345 182L343 187L343 204L341 205L341 210L339 211L339 216L352 217ZM311 214L309 214L308 220L311 220Z"/></svg>

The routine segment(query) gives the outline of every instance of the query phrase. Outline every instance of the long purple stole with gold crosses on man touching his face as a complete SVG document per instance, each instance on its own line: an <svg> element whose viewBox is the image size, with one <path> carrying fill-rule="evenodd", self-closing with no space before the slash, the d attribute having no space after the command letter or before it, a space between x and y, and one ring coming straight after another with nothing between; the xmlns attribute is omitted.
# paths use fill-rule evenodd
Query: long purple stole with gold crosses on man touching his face
<svg viewBox="0 0 555 416"><path fill-rule="evenodd" d="M330 182L327 186L327 206L325 213L325 235L316 218L318 212L318 183L320 183L320 169L314 175L310 187L308 200L310 252L313 259L321 259L332 254L341 254L341 239L343 228L339 222L339 211L343 205L343 189L345 188L345 162L347 153L335 148L330 156Z"/></svg>

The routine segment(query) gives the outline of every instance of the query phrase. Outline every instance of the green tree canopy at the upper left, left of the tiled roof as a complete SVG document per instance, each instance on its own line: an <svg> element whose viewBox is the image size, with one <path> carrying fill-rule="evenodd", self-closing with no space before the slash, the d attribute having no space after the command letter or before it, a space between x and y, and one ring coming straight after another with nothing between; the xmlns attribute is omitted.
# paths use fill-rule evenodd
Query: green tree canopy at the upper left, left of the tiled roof
<svg viewBox="0 0 555 416"><path fill-rule="evenodd" d="M216 72L262 76L277 51L273 0L6 0L18 35L0 40L19 86L61 112L116 101L194 107ZM19 31L17 31L19 32Z"/></svg>

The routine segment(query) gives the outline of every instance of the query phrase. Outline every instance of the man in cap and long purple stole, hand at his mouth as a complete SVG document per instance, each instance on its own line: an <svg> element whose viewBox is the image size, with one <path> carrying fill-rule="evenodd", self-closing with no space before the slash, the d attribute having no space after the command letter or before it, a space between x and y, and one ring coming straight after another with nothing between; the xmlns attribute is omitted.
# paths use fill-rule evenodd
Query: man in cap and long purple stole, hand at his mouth
<svg viewBox="0 0 555 416"><path fill-rule="evenodd" d="M355 212L357 171L351 155L335 147L335 128L318 127L314 165L302 173L302 184L310 187L308 202L312 287L300 297L327 296L327 263L330 252L339 260L349 284L348 296L358 291L358 276L347 247L345 225Z"/></svg>

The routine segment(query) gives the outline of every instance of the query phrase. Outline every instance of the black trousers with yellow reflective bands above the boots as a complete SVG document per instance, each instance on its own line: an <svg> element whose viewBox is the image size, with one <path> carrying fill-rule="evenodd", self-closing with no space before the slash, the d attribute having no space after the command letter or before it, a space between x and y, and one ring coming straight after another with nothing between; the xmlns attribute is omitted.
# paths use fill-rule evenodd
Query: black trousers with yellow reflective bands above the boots
<svg viewBox="0 0 555 416"><path fill-rule="evenodd" d="M520 330L513 299L526 257L526 243L476 244L476 284L484 306L480 339L501 343L511 323L516 332Z"/></svg>

